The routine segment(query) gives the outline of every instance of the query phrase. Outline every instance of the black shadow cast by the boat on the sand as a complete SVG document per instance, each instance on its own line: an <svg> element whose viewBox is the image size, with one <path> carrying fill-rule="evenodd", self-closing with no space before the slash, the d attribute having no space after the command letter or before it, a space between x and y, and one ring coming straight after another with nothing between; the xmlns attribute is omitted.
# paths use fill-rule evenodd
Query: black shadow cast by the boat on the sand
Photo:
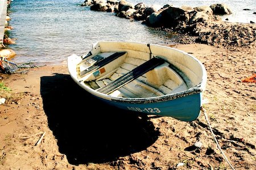
<svg viewBox="0 0 256 170"><path fill-rule="evenodd" d="M123 111L85 92L68 74L41 77L49 128L69 163L105 163L145 150L159 131L147 118Z"/></svg>

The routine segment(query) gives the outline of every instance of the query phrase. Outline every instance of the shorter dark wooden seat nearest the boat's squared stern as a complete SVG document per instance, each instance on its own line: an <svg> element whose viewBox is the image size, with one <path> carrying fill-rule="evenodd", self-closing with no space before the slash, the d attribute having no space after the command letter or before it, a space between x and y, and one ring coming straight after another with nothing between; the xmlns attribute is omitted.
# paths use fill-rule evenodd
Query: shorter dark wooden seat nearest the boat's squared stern
<svg viewBox="0 0 256 170"><path fill-rule="evenodd" d="M121 57L122 55L124 55L126 52L115 52L113 53L113 55L106 57L100 61L97 61L96 63L94 63L92 66L90 66L89 68L86 68L84 71L82 71L80 73L80 76L85 76L86 74L96 71L97 69L103 67L106 64L109 64L111 61L117 59L118 57Z"/></svg>

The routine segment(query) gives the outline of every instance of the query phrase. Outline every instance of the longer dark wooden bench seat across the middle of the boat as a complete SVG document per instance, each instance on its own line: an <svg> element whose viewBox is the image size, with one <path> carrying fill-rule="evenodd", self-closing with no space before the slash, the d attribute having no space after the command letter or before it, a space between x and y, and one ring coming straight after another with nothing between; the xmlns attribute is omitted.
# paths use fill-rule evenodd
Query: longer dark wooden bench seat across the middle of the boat
<svg viewBox="0 0 256 170"><path fill-rule="evenodd" d="M138 67L134 68L130 72L124 74L123 76L117 78L116 80L110 82L109 84L97 89L98 92L109 94L114 90L121 88L122 86L126 85L127 83L135 80L139 76L142 76L144 73L151 71L155 67L164 63L163 59L152 58L145 63L139 65Z"/></svg>

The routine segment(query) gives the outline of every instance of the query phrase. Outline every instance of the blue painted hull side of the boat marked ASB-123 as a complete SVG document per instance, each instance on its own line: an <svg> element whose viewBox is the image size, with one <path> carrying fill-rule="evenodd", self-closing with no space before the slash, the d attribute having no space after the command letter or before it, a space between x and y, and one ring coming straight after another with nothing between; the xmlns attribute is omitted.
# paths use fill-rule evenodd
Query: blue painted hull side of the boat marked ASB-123
<svg viewBox="0 0 256 170"><path fill-rule="evenodd" d="M102 98L100 98L102 99ZM176 98L170 101L155 103L127 103L118 101L104 102L120 109L138 111L148 115L160 115L179 119L180 121L194 121L200 115L202 94L196 93L182 98Z"/></svg>

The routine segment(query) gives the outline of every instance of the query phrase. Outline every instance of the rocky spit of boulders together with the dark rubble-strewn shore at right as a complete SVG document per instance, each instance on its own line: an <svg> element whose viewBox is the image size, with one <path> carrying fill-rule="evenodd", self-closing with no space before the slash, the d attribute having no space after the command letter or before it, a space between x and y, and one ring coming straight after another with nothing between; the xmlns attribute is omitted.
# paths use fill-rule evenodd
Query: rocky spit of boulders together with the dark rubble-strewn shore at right
<svg viewBox="0 0 256 170"><path fill-rule="evenodd" d="M214 46L243 46L255 42L255 24L223 22L220 15L232 14L227 5L213 4L199 7L172 5L134 5L125 0L85 0L82 6L90 10L107 11L127 19L141 20L143 24L177 34L178 43L204 43ZM247 34L247 35L244 35Z"/></svg>

